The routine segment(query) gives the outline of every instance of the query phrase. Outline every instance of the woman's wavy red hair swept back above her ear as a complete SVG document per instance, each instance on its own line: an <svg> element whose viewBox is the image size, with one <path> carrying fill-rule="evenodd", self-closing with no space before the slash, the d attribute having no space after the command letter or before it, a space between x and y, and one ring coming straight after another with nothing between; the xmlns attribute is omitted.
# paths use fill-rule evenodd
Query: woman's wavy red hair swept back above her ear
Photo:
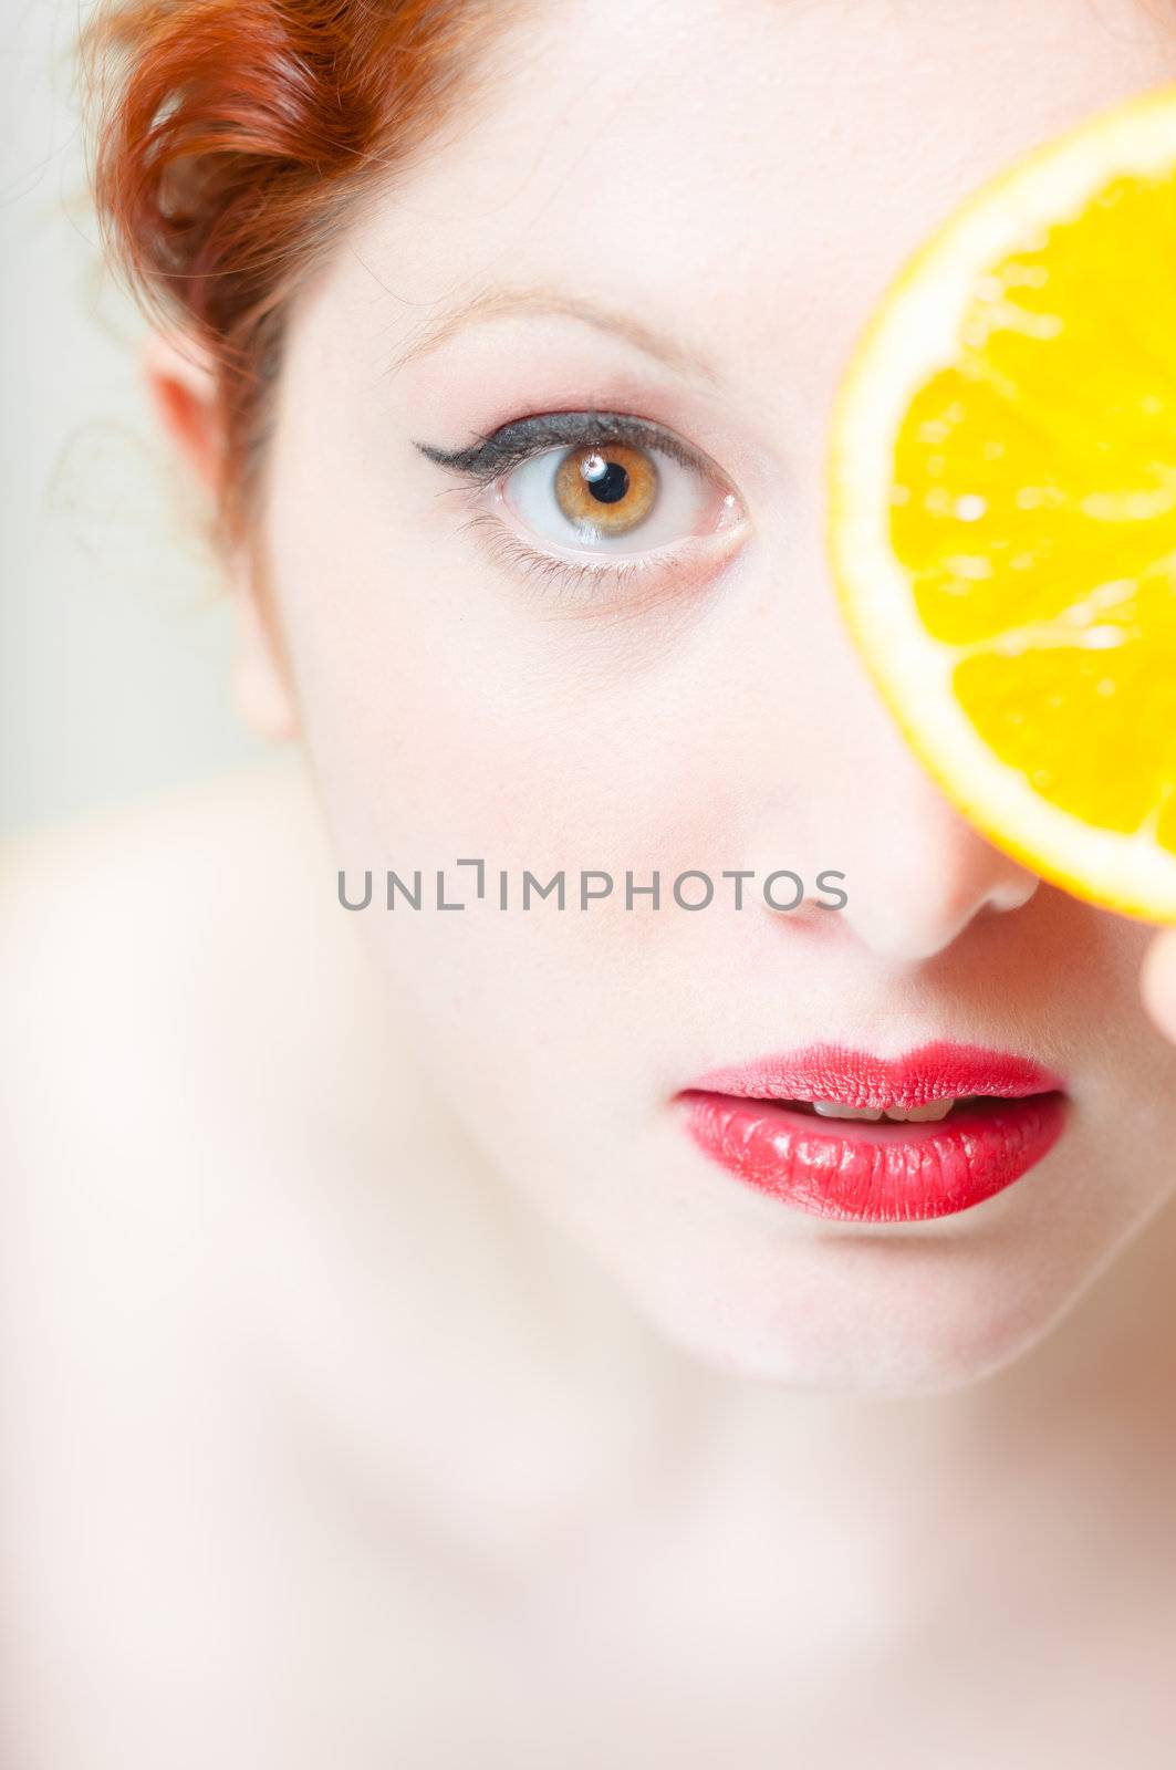
<svg viewBox="0 0 1176 1770"><path fill-rule="evenodd" d="M85 28L103 242L152 322L214 361L223 536L250 522L294 289L436 129L505 11L103 0Z"/></svg>

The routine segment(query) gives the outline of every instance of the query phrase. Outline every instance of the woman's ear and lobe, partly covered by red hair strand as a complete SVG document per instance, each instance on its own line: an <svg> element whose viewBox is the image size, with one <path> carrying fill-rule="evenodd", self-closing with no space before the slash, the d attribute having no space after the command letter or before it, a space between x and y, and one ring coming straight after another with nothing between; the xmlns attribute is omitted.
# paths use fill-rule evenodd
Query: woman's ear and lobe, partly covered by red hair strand
<svg viewBox="0 0 1176 1770"><path fill-rule="evenodd" d="M193 476L214 494L223 437L211 354L190 335L151 331L142 347L142 372L163 430ZM292 738L299 729L298 703L260 547L239 542L225 565L237 630L237 708L260 736Z"/></svg>

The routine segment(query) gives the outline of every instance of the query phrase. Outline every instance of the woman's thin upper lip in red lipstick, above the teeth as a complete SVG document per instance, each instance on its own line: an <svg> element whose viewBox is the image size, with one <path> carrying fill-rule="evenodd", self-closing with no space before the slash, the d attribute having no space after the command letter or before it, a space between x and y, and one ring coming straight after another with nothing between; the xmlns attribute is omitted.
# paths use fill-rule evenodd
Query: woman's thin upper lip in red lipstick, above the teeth
<svg viewBox="0 0 1176 1770"><path fill-rule="evenodd" d="M871 1110L926 1106L972 1094L1022 1099L1052 1094L1064 1081L1052 1069L1011 1051L978 1044L930 1043L901 1057L873 1057L843 1044L813 1044L802 1051L758 1057L728 1069L712 1069L687 1092L730 1094L740 1099L832 1101Z"/></svg>

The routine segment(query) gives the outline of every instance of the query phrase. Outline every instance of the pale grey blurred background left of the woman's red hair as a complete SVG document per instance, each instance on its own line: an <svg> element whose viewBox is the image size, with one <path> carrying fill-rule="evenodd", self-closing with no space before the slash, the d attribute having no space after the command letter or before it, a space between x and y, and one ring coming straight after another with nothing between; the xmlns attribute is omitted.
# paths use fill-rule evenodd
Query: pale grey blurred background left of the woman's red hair
<svg viewBox="0 0 1176 1770"><path fill-rule="evenodd" d="M257 754L145 322L103 271L74 44L90 0L0 0L0 835Z"/></svg>

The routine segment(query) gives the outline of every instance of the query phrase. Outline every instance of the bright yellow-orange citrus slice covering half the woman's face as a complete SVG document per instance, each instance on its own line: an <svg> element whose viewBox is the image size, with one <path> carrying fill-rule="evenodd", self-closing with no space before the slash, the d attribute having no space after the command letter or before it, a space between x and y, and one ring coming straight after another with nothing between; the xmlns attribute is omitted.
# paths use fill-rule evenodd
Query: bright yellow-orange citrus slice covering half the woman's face
<svg viewBox="0 0 1176 1770"><path fill-rule="evenodd" d="M1176 922L1176 87L923 246L841 386L829 492L850 630L948 796Z"/></svg>

